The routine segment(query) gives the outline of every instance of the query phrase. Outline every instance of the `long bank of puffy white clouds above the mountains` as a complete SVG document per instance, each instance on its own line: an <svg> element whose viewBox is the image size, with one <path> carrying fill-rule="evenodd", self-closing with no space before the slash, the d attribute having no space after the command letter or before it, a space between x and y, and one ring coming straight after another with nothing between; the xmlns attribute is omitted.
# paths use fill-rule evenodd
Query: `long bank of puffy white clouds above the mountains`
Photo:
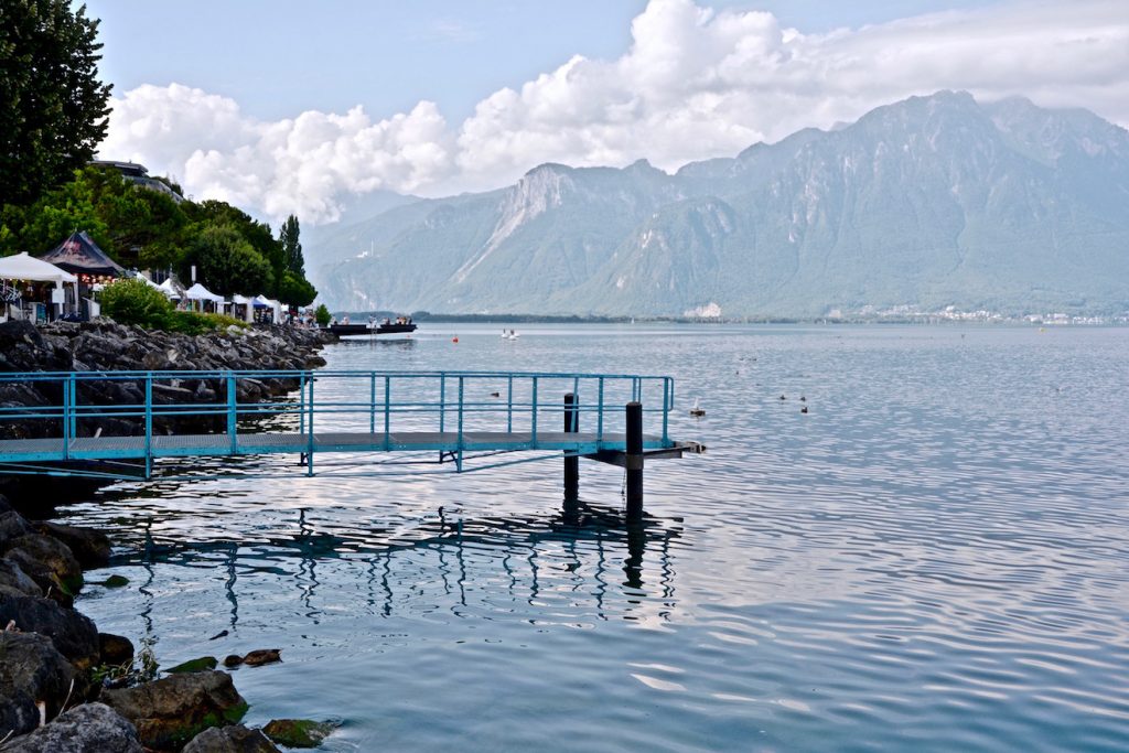
<svg viewBox="0 0 1129 753"><path fill-rule="evenodd" d="M178 85L114 98L105 158L177 176L273 219L336 219L349 193L443 195L507 184L544 161L674 169L938 89L1031 97L1129 123L1129 8L1016 3L804 34L769 12L651 0L615 60L575 56L483 98L457 126L437 105L374 121L306 112L260 122Z"/></svg>

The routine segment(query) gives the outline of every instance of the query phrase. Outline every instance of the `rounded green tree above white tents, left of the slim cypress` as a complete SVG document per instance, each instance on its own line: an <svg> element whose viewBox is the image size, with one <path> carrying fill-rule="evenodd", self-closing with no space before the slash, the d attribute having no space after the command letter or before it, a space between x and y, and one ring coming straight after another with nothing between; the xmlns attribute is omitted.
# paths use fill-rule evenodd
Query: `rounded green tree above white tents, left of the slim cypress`
<svg viewBox="0 0 1129 753"><path fill-rule="evenodd" d="M273 288L270 263L230 225L202 225L191 233L178 270L182 280L192 279L193 264L196 279L212 292L253 296Z"/></svg>

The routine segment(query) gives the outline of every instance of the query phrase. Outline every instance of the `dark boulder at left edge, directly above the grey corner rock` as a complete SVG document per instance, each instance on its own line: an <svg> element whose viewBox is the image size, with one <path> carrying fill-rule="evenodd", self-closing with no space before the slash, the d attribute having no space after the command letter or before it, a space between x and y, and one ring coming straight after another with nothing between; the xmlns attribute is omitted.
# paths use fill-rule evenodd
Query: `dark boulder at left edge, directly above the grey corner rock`
<svg viewBox="0 0 1129 753"><path fill-rule="evenodd" d="M33 632L0 633L0 732L17 735L40 726L36 701L46 703L47 718L59 713L71 692L75 668L51 639ZM85 686L77 688L77 700Z"/></svg>

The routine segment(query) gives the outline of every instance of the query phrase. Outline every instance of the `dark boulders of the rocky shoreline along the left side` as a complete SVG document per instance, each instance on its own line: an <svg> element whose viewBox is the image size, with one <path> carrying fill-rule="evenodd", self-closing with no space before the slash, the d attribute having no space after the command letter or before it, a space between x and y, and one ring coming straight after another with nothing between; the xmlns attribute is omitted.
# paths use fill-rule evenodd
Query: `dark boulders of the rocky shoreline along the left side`
<svg viewBox="0 0 1129 753"><path fill-rule="evenodd" d="M42 327L14 322L0 324L0 371L310 369L325 364L317 353L333 340L324 332L291 327L233 327L190 336L110 321ZM170 382L156 400L226 400L208 379ZM240 380L238 399L283 395L297 387L294 382ZM110 384L115 394L91 391L79 397L86 404L137 402L134 383ZM106 389L105 384L99 388ZM50 382L5 383L0 405L59 405L58 393ZM130 434L135 428L129 419L99 420L80 422L78 434ZM155 427L165 432L185 428L199 430L200 419L185 414ZM47 431L50 427L12 421L0 424L0 439ZM37 476L0 480L8 494L0 494L0 751L259 752L278 751L272 739L313 747L331 732L324 723L287 719L263 730L247 728L239 724L247 702L231 676L213 668L213 658L173 667L156 678L151 657L134 657L128 638L99 633L75 610L75 595L84 585L84 570L110 563L110 540L96 531L36 520L52 511L53 500L44 500L46 488ZM266 649L228 658L254 666L279 656Z"/></svg>

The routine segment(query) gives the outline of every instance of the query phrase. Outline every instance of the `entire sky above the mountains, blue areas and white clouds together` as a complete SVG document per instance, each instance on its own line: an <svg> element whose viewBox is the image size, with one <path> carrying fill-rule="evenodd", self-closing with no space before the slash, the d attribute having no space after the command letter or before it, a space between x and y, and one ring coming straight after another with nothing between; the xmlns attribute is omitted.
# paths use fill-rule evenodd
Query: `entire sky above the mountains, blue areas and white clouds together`
<svg viewBox="0 0 1129 753"><path fill-rule="evenodd" d="M663 169L939 89L1129 124L1126 0L88 0L104 159L278 222Z"/></svg>

